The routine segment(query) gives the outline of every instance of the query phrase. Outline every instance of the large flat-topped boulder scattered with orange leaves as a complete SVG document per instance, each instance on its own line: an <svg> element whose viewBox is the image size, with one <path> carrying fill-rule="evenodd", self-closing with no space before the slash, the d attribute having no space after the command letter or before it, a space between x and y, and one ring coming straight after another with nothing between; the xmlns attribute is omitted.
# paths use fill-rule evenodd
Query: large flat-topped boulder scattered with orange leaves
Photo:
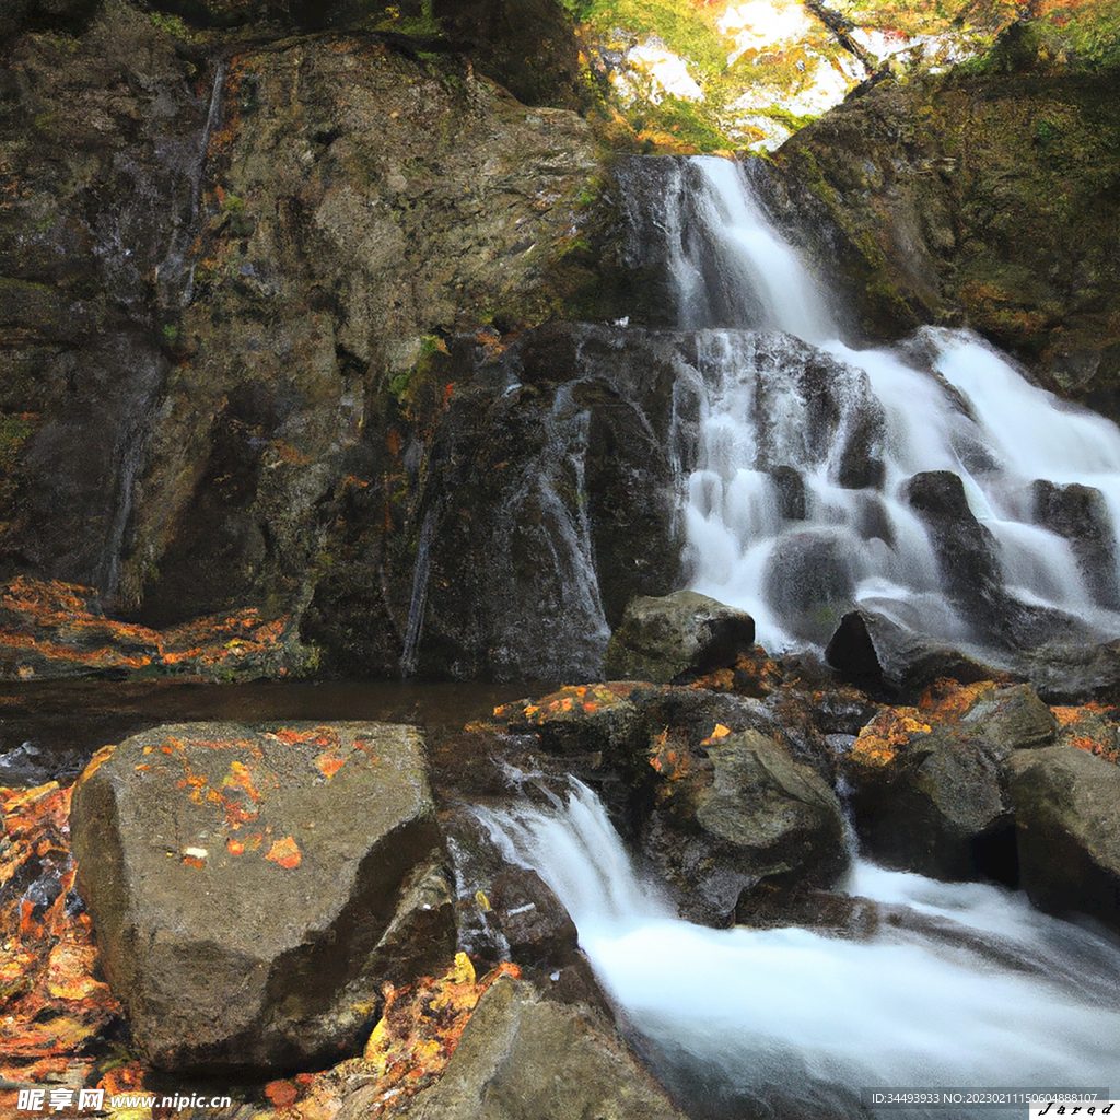
<svg viewBox="0 0 1120 1120"><path fill-rule="evenodd" d="M411 727L156 728L99 753L71 829L105 972L167 1070L336 1061L385 980L454 953Z"/></svg>

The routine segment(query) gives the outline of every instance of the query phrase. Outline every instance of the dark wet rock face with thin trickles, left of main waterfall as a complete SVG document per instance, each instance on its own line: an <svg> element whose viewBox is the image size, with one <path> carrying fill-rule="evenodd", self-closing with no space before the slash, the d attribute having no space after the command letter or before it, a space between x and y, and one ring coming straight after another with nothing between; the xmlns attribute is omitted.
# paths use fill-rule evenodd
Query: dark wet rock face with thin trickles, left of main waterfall
<svg viewBox="0 0 1120 1120"><path fill-rule="evenodd" d="M420 674L601 676L626 603L679 582L666 445L687 340L557 324L461 342L423 440L320 507L337 543L305 634L344 672L395 672L422 587Z"/></svg>

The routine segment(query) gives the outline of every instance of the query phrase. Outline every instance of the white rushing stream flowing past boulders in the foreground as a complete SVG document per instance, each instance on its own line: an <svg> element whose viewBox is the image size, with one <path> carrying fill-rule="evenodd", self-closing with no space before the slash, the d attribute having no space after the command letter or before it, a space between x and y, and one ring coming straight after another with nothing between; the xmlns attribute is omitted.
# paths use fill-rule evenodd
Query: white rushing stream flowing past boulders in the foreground
<svg viewBox="0 0 1120 1120"><path fill-rule="evenodd" d="M586 787L550 811L483 816L506 858L568 908L596 974L693 1117L866 1116L859 1090L875 1085L1120 1092L1120 945L1020 895L857 861L850 893L977 931L978 948L900 930L868 941L709 930L642 881Z"/></svg>

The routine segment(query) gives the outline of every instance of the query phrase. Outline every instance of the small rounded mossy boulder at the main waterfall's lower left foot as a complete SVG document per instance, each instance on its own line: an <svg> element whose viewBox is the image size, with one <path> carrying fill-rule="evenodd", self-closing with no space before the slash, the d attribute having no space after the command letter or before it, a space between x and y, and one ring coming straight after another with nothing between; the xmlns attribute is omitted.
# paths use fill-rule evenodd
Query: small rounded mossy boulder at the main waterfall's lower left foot
<svg viewBox="0 0 1120 1120"><path fill-rule="evenodd" d="M750 615L707 595L640 596L610 636L605 668L613 679L666 684L731 665L754 641Z"/></svg>

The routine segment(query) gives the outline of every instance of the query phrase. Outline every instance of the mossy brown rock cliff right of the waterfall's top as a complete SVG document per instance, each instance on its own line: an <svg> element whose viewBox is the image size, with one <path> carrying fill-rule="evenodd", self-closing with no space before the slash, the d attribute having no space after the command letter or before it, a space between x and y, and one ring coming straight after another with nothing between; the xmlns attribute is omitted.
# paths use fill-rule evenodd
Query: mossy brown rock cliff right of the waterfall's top
<svg viewBox="0 0 1120 1120"><path fill-rule="evenodd" d="M1101 315L1120 290L1114 86L1108 69L998 66L887 82L794 136L783 180L819 216L809 236L865 328L963 316L1116 417L1120 335Z"/></svg>

